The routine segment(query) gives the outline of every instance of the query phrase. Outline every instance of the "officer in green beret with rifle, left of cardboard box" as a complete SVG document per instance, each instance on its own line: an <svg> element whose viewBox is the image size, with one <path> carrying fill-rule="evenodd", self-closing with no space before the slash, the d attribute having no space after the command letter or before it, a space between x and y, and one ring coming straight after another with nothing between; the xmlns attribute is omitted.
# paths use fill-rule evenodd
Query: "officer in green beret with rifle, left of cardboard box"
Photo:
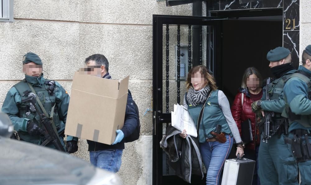
<svg viewBox="0 0 311 185"><path fill-rule="evenodd" d="M24 103L31 93L34 93L42 104L40 114L47 113L46 117L53 118L54 131L58 132L61 145L69 153L78 150L78 138L67 136L67 144L64 144L63 133L66 124L69 95L67 91L56 81L44 79L42 73L42 61L35 53L27 53L23 57L23 72L25 79L15 84L7 93L1 111L7 113L22 141L41 145L44 142L40 124L40 116L33 104ZM39 106L37 106L39 107ZM54 133L55 133L54 132ZM52 143L46 146L55 148ZM61 147L60 147L61 148Z"/></svg>

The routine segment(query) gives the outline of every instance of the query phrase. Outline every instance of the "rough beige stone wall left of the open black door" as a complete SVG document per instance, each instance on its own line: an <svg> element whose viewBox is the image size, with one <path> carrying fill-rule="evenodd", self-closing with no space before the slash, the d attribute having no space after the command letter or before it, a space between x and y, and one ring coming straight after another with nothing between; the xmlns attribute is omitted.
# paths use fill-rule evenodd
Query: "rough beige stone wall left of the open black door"
<svg viewBox="0 0 311 185"><path fill-rule="evenodd" d="M151 184L152 15L191 15L192 5L165 7L156 0L14 0L14 22L0 22L0 106L24 78L22 58L37 53L44 77L69 92L74 71L92 54L104 54L114 79L130 75L129 89L140 110L141 137L128 143L118 175L124 184ZM86 141L77 157L89 161Z"/></svg>

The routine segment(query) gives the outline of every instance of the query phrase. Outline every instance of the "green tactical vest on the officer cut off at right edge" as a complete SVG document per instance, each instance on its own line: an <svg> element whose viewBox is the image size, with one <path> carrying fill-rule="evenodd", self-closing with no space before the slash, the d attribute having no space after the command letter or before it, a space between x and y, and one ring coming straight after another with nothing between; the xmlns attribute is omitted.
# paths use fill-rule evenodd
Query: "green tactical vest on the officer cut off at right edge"
<svg viewBox="0 0 311 185"><path fill-rule="evenodd" d="M308 85L308 92L310 93L311 81L307 76L304 76L303 74L300 74L300 73L293 73L290 76L288 76L286 81L288 81L290 78L293 78L293 77L298 77L301 80L303 80ZM310 94L308 95L308 99L310 99ZM282 112L282 116L285 118L289 118L288 120L289 120L290 125L294 122L298 122L299 124L301 124L302 126L304 126L306 128L310 127L311 115L297 115L297 114L293 113L290 110L290 106L289 106L285 96L284 96L284 100L285 100L285 109Z"/></svg>

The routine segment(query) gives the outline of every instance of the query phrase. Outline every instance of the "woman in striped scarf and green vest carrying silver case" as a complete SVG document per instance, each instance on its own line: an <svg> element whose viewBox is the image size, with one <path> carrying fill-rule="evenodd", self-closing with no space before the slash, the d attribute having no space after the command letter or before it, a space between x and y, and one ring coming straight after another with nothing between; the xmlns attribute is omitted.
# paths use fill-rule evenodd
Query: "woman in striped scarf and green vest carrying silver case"
<svg viewBox="0 0 311 185"><path fill-rule="evenodd" d="M207 169L206 184L218 185L233 138L238 146L236 155L244 155L244 144L232 117L229 101L221 90L217 90L216 82L205 66L196 66L190 70L186 87L188 91L184 97L184 106L196 124L201 108L205 106L199 128L199 147ZM216 127L220 128L219 134L216 133ZM180 136L185 138L187 133L183 131Z"/></svg>

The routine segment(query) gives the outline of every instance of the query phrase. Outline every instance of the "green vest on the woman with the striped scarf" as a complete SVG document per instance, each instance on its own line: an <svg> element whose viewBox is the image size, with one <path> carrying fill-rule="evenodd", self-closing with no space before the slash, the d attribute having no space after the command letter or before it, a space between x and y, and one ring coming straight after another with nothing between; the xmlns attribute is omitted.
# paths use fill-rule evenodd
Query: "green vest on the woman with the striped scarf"
<svg viewBox="0 0 311 185"><path fill-rule="evenodd" d="M188 105L188 112L191 118L197 126L199 114L203 104L197 106ZM212 137L211 131L216 131L216 125L221 125L221 132L231 135L231 130L226 121L224 113L219 107L218 103L218 90L213 90L210 97L207 99L205 104L204 113L202 116L200 128L199 128L199 142L204 143L207 137Z"/></svg>

